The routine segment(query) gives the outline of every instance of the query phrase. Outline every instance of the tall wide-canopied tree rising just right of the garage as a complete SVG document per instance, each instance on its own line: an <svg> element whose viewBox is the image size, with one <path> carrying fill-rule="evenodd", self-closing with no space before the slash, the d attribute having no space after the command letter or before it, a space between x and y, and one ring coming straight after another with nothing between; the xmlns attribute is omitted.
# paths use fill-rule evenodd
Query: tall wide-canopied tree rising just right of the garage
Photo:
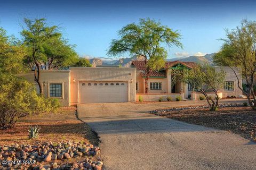
<svg viewBox="0 0 256 170"><path fill-rule="evenodd" d="M163 44L182 47L180 33L150 19L140 19L138 24L126 25L118 32L118 36L119 39L111 41L108 55L116 56L128 52L145 57L145 93L148 93L150 74L165 66L167 52Z"/></svg>

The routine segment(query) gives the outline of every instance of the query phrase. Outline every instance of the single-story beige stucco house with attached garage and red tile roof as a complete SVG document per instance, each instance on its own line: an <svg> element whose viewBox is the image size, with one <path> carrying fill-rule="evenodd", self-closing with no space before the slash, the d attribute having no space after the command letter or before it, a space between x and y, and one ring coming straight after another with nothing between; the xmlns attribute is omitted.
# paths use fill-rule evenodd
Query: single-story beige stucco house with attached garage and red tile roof
<svg viewBox="0 0 256 170"><path fill-rule="evenodd" d="M178 64L193 67L193 62L166 62L161 71L151 73L149 94L145 91L145 62L133 61L130 68L124 67L69 67L68 70L41 70L41 83L45 97L58 98L63 106L79 103L110 103L143 100L158 100L159 97L181 95L188 98L191 87L181 82L171 86L171 68ZM228 67L222 97L242 95L237 87L234 73ZM216 67L219 69L219 67ZM34 82L34 71L22 74L28 81ZM242 80L242 77L241 77ZM242 81L241 81L242 83ZM227 86L225 86L227 84ZM210 92L210 91L209 91ZM197 99L197 98L195 98Z"/></svg>

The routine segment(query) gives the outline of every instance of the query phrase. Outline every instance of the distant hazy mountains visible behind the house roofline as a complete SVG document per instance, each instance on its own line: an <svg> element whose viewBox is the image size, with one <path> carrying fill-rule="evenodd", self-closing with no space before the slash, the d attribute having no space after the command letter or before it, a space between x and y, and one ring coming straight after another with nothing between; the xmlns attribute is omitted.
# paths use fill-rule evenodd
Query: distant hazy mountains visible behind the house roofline
<svg viewBox="0 0 256 170"><path fill-rule="evenodd" d="M182 62L196 62L196 63L203 63L208 62L209 64L213 65L213 55L216 53L206 54L204 56L184 56L184 57L176 57L167 59L166 61L182 61ZM143 61L144 57L142 56L133 56L133 57L126 57L126 58L105 58L105 57L97 57L91 58L90 63L93 66L122 66L122 67L130 67L132 61L139 60Z"/></svg>

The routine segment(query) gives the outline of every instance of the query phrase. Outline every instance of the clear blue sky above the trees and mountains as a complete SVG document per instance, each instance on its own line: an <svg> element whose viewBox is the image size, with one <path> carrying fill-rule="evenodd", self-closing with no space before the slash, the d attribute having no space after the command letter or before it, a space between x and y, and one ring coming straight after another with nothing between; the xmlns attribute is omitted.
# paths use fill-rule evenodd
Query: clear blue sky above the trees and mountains
<svg viewBox="0 0 256 170"><path fill-rule="evenodd" d="M256 1L9 1L1 3L0 27L20 37L24 17L47 18L60 25L79 55L108 57L110 40L124 25L140 18L159 20L179 30L184 48L166 48L169 58L217 52L242 19L256 20ZM129 55L125 55L128 57Z"/></svg>

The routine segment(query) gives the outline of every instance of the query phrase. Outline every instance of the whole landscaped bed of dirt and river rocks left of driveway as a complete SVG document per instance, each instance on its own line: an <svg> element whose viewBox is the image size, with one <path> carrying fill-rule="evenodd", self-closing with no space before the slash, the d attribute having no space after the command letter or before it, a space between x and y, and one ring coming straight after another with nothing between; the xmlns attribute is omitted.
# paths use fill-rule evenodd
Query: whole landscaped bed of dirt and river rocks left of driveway
<svg viewBox="0 0 256 170"><path fill-rule="evenodd" d="M41 128L38 138L28 139L30 125ZM14 129L0 133L0 169L103 168L98 135L77 120L75 107L27 116Z"/></svg>

